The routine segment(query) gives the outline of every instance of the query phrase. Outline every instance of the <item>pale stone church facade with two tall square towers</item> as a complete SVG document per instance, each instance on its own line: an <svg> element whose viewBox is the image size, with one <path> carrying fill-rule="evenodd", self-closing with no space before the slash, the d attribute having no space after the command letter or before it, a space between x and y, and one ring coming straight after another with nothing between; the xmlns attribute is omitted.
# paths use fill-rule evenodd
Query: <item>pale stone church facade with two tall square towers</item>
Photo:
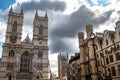
<svg viewBox="0 0 120 80"><path fill-rule="evenodd" d="M24 12L8 14L5 43L0 62L0 80L49 80L48 17L38 16L33 21L33 38L21 41Z"/></svg>

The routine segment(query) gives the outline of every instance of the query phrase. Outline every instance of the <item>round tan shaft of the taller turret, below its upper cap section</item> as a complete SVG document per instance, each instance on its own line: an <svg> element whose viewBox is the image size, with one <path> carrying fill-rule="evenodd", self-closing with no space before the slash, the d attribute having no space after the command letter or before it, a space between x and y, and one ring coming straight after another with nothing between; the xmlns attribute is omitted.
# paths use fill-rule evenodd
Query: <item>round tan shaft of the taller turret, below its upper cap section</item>
<svg viewBox="0 0 120 80"><path fill-rule="evenodd" d="M95 57L95 49L94 49L94 42L93 38L88 39L88 47L89 47L89 62L91 65L91 78L92 80L98 80L98 74L97 74L97 63L96 63L96 57Z"/></svg>

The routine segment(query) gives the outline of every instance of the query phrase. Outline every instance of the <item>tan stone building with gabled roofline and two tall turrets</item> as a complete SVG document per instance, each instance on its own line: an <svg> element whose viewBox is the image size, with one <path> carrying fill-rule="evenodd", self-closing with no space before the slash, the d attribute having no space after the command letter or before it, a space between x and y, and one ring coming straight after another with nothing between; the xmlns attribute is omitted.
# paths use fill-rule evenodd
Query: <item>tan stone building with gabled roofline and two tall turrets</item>
<svg viewBox="0 0 120 80"><path fill-rule="evenodd" d="M86 34L78 33L81 80L120 80L120 21L115 31L96 34L87 25Z"/></svg>

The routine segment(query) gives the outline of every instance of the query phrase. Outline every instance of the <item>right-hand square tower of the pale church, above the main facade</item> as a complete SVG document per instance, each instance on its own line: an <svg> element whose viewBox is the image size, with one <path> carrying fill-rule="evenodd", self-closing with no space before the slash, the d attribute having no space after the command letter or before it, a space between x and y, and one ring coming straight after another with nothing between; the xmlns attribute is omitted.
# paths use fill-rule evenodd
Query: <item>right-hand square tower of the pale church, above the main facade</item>
<svg viewBox="0 0 120 80"><path fill-rule="evenodd" d="M44 17L38 16L36 10L33 22L33 42L34 45L43 45L48 41L48 17L47 12ZM47 44L46 44L47 45Z"/></svg>

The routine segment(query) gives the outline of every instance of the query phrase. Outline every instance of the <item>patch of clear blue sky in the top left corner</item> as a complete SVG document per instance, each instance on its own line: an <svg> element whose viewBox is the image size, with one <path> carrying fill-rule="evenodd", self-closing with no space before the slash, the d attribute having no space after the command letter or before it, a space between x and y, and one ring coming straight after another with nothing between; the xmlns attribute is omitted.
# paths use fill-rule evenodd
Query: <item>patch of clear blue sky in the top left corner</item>
<svg viewBox="0 0 120 80"><path fill-rule="evenodd" d="M0 0L0 9L5 10L14 3L15 3L15 0Z"/></svg>

